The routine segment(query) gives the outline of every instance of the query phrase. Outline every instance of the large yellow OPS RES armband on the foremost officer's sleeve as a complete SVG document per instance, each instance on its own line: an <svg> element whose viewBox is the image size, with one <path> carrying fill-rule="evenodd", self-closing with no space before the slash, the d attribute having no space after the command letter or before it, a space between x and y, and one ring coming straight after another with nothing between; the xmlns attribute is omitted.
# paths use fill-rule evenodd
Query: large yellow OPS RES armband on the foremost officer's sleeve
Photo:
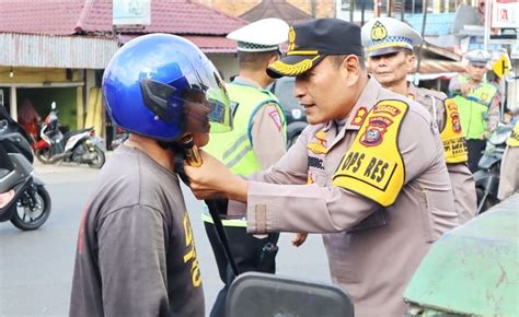
<svg viewBox="0 0 519 317"><path fill-rule="evenodd" d="M408 108L405 102L396 99L381 101L371 108L333 176L334 186L383 207L396 200L405 179L397 141Z"/></svg>

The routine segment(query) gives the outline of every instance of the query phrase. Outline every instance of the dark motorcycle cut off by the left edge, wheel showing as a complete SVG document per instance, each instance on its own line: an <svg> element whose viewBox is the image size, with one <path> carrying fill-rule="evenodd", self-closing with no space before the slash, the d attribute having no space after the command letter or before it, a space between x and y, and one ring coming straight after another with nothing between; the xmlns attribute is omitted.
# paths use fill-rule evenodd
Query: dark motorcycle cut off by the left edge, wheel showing
<svg viewBox="0 0 519 317"><path fill-rule="evenodd" d="M42 226L50 214L50 196L34 176L31 139L0 107L0 195L13 192L0 208L0 222L11 221L20 230Z"/></svg>

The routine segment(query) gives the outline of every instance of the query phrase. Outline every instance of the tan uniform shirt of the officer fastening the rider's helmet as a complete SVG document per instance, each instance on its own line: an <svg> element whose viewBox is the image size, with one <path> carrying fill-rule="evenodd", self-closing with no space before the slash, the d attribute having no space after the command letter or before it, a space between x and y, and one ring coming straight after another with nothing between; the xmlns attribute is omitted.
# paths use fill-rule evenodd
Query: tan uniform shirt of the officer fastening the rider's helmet
<svg viewBox="0 0 519 317"><path fill-rule="evenodd" d="M383 99L410 104L397 139L404 186L388 208L332 185L360 128L357 115ZM320 141L320 131L325 154L307 148ZM231 202L229 214L241 207ZM342 129L334 121L308 126L277 164L250 177L246 218L251 233L330 233L324 244L332 279L351 295L356 316L402 316L403 292L419 261L432 242L458 225L436 124L423 106L370 79Z"/></svg>

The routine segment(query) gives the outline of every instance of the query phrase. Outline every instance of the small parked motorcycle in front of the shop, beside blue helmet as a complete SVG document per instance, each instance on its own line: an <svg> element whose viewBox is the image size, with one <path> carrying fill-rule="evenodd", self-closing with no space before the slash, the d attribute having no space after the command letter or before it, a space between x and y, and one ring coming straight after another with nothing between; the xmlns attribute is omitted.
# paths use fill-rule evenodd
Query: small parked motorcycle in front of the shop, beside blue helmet
<svg viewBox="0 0 519 317"><path fill-rule="evenodd" d="M64 134L59 129L56 103L53 102L50 108L39 132L42 140L34 146L36 158L43 164L54 164L62 160L101 168L106 157L101 150L100 139L95 138L94 129L68 131Z"/></svg>

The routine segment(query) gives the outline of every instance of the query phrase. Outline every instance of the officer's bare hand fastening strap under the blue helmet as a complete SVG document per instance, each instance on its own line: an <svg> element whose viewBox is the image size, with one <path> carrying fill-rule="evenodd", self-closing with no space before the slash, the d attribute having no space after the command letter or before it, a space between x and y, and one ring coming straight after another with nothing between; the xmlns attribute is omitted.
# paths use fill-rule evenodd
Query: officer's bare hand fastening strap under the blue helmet
<svg viewBox="0 0 519 317"><path fill-rule="evenodd" d="M246 202L246 181L233 175L226 165L210 154L200 151L199 167L184 165L189 187L197 199L228 198Z"/></svg>

